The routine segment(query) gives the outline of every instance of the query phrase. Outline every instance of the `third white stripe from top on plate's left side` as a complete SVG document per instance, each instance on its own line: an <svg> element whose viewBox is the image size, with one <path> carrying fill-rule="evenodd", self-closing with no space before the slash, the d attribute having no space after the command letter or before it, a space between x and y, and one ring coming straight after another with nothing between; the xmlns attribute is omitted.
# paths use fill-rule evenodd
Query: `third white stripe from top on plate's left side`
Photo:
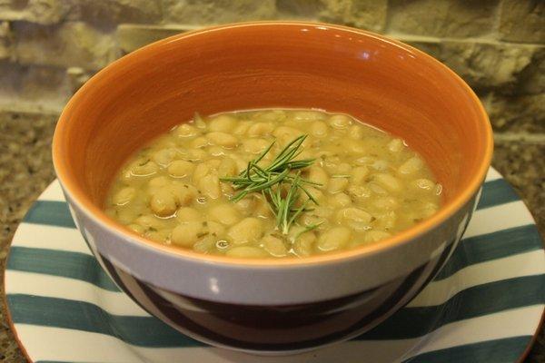
<svg viewBox="0 0 545 363"><path fill-rule="evenodd" d="M149 317L124 292L100 289L90 282L42 275L33 272L6 270L5 290L9 294L27 294L47 298L89 302L110 314Z"/></svg>

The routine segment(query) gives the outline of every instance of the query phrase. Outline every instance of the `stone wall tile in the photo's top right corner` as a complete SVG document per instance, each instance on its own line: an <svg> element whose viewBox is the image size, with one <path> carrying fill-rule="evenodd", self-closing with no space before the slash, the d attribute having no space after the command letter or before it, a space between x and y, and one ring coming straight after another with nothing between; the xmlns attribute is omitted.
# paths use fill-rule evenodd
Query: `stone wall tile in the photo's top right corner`
<svg viewBox="0 0 545 363"><path fill-rule="evenodd" d="M545 44L545 2L503 0L499 31L501 40Z"/></svg>

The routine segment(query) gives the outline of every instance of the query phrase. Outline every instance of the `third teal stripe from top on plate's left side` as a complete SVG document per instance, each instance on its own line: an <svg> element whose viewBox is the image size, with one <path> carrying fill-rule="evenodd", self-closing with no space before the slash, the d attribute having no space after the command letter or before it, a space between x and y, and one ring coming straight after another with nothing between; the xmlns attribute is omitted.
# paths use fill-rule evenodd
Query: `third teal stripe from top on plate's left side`
<svg viewBox="0 0 545 363"><path fill-rule="evenodd" d="M18 324L89 331L150 348L203 346L203 343L183 336L159 319L112 315L84 301L22 294L8 295L7 301Z"/></svg>

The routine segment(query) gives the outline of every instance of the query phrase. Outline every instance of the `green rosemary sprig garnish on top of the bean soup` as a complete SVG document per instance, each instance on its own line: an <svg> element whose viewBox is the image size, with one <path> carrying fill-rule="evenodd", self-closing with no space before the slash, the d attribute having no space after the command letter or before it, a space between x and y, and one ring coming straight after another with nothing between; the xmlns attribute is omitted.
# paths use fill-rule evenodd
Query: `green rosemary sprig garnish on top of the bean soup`
<svg viewBox="0 0 545 363"><path fill-rule="evenodd" d="M288 234L290 227L304 211L312 211L308 208L310 202L318 204L304 185L321 185L301 177L302 169L312 165L315 159L294 160L302 152L302 142L307 135L301 135L289 142L281 152L276 155L272 162L262 167L258 165L265 155L271 151L274 142L261 152L255 159L248 162L246 169L238 176L220 178L222 182L233 183L234 189L239 191L231 200L236 202L242 200L252 192L261 192L263 198L269 202L272 213L276 216L276 226L283 234ZM296 206L301 191L308 197L302 205ZM320 224L307 226L296 238L305 231L312 231Z"/></svg>

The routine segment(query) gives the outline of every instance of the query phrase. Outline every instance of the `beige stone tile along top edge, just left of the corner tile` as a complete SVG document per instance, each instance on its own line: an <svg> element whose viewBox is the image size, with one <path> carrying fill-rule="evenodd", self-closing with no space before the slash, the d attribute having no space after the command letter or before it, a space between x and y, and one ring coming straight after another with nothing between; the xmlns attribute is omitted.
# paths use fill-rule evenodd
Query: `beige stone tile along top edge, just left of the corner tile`
<svg viewBox="0 0 545 363"><path fill-rule="evenodd" d="M490 34L499 0L391 0L388 31L441 37Z"/></svg>

